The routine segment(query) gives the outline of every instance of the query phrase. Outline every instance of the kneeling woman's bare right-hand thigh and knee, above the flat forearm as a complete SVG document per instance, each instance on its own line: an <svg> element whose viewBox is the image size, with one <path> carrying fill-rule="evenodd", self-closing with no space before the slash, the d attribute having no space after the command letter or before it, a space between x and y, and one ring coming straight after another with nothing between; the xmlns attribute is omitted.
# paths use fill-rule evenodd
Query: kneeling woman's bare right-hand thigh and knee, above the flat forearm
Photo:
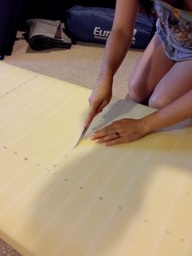
<svg viewBox="0 0 192 256"><path fill-rule="evenodd" d="M192 60L177 62L155 87L149 105L154 108L164 108L190 90L192 90Z"/></svg>

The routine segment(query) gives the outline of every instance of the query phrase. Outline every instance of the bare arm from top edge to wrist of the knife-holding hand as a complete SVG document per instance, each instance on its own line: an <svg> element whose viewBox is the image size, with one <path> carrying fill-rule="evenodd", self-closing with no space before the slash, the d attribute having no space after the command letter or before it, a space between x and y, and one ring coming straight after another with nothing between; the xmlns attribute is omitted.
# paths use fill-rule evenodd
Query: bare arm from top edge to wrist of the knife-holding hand
<svg viewBox="0 0 192 256"><path fill-rule="evenodd" d="M138 2L117 0L113 26L103 56L99 77L113 77L129 50L137 17Z"/></svg>

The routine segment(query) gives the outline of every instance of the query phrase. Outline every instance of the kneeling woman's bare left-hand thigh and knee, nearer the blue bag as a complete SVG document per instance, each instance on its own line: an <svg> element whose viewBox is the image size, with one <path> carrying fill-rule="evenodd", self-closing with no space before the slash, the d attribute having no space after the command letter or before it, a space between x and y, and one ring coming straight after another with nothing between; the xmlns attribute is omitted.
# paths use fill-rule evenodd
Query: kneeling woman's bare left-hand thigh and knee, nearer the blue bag
<svg viewBox="0 0 192 256"><path fill-rule="evenodd" d="M155 34L133 68L129 79L129 96L139 103L150 99L155 86L173 64L175 62L168 59L158 35Z"/></svg>

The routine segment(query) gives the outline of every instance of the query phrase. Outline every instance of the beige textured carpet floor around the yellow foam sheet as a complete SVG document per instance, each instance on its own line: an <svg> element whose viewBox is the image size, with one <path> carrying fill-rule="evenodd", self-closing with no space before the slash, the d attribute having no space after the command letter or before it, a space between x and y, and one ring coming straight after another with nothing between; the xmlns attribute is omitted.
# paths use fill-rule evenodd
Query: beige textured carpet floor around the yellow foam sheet
<svg viewBox="0 0 192 256"><path fill-rule="evenodd" d="M3 62L79 86L90 89L94 87L102 63L103 45L77 43L70 50L53 49L40 52L28 47L22 33L19 32L17 38L12 55L7 56ZM126 96L128 77L140 55L142 51L136 50L131 50L126 55L114 79L113 95L119 98ZM0 256L20 256L20 254L0 239Z"/></svg>

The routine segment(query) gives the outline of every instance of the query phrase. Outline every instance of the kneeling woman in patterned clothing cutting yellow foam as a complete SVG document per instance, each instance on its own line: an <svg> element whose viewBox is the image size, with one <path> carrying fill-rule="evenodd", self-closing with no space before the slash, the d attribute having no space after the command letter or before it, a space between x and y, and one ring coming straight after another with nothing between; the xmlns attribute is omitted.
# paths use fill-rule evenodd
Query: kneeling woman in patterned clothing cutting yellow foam
<svg viewBox="0 0 192 256"><path fill-rule="evenodd" d="M89 97L85 126L111 100L113 76L129 50L139 5L149 10L151 1L116 1L115 19L98 81ZM192 1L155 0L154 7L159 17L157 33L133 68L129 96L158 110L141 119L114 121L92 135L98 143L128 143L192 117Z"/></svg>

